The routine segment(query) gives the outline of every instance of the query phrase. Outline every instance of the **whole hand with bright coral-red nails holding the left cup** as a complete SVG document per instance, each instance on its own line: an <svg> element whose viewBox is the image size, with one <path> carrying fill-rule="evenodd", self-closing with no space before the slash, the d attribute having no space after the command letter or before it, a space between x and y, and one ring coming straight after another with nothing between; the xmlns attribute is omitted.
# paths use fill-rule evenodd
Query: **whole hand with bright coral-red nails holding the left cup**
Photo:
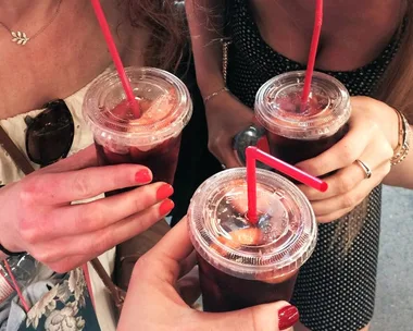
<svg viewBox="0 0 413 331"><path fill-rule="evenodd" d="M145 231L173 208L168 184L155 183L87 204L113 189L148 184L141 166L97 166L91 146L0 189L0 243L65 272Z"/></svg>

